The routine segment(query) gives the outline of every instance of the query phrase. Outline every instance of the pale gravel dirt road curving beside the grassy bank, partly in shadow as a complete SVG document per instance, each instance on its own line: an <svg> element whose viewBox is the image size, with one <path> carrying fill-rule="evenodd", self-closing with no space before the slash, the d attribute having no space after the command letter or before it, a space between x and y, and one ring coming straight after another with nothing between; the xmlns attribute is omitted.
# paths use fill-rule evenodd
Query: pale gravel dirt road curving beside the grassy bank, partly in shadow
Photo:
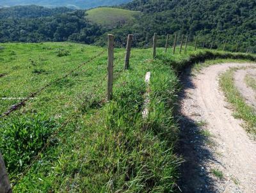
<svg viewBox="0 0 256 193"><path fill-rule="evenodd" d="M243 121L232 116L219 87L220 73L235 66L253 65L213 65L196 77L184 76L180 96L180 153L185 159L179 184L182 192L256 192L256 142L241 127Z"/></svg>

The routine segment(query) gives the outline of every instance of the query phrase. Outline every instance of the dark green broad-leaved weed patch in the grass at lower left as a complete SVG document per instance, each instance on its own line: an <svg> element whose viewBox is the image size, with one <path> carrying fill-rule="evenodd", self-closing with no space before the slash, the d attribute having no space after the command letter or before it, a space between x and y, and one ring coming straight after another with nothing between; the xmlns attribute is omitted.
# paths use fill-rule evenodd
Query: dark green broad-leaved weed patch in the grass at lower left
<svg viewBox="0 0 256 193"><path fill-rule="evenodd" d="M12 173L22 171L29 164L57 127L43 114L12 116L0 124L0 150Z"/></svg>

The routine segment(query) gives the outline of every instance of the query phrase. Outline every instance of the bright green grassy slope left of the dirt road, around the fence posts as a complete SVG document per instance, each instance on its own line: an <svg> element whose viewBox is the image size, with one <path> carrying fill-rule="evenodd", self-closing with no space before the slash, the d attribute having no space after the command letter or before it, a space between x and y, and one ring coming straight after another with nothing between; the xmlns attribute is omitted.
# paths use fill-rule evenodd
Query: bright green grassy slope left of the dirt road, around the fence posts
<svg viewBox="0 0 256 193"><path fill-rule="evenodd" d="M173 192L180 158L174 112L178 73L204 59L249 54L189 47L115 49L114 98L106 102L107 50L76 43L2 43L0 150L15 192ZM143 120L145 73L150 71L149 114ZM13 109L13 108L11 108Z"/></svg>

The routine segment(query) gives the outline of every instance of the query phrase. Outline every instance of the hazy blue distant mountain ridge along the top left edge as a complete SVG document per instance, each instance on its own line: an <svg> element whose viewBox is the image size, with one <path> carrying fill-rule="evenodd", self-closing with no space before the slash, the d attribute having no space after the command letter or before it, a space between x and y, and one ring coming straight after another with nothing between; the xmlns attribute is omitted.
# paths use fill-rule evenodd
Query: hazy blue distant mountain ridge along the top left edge
<svg viewBox="0 0 256 193"><path fill-rule="evenodd" d="M97 6L113 6L129 3L132 0L1 0L0 7L17 5L41 5L47 7L67 6L68 8L95 8Z"/></svg>

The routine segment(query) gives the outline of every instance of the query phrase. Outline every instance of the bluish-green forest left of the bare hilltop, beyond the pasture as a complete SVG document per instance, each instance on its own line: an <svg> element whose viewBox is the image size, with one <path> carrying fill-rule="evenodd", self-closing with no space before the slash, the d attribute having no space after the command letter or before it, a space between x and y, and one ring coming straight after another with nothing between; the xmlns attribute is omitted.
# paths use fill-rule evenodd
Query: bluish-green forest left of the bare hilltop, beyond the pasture
<svg viewBox="0 0 256 193"><path fill-rule="evenodd" d="M0 42L93 43L104 33L102 27L86 20L83 10L17 6L1 9L0 15Z"/></svg>

